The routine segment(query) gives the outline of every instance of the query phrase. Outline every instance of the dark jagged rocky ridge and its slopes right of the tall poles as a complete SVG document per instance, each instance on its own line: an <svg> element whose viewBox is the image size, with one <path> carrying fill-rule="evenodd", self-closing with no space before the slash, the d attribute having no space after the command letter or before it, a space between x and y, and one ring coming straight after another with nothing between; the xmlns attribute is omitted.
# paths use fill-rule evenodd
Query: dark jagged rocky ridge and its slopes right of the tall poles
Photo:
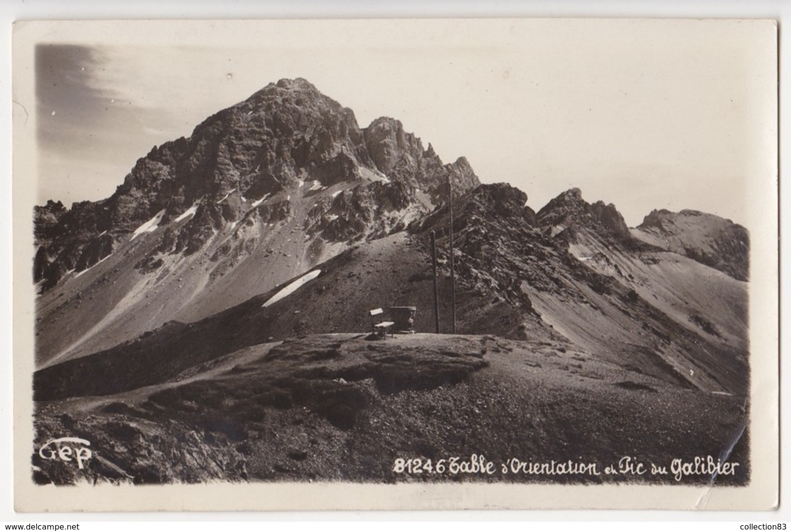
<svg viewBox="0 0 791 531"><path fill-rule="evenodd" d="M466 322L465 331L497 328L528 339L546 337L548 327L676 385L744 392L744 285L633 238L613 205L590 205L580 190L560 194L538 214L526 200L496 184L454 204L457 284L490 299L492 313L498 305L517 309L496 324L480 312L480 327ZM412 226L422 239L435 231L445 274L448 225L443 206Z"/></svg>

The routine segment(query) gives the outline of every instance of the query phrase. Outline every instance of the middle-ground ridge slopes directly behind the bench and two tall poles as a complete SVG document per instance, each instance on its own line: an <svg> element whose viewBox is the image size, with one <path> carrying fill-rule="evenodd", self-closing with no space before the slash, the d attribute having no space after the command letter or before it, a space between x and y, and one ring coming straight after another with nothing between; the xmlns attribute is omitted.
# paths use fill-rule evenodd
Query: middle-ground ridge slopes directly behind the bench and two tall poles
<svg viewBox="0 0 791 531"><path fill-rule="evenodd" d="M624 245L609 233L577 226L553 237L534 226L525 199L508 185L482 185L457 201L457 330L562 341L678 386L746 392L744 283L678 254ZM318 265L316 278L275 303L265 304L288 283L202 321L169 322L48 367L36 373L38 396L115 393L250 345L307 333L364 333L374 307L417 306L416 330L433 331L430 230L440 245L447 332L447 228L441 207L410 232L360 243ZM727 303L713 311L715 299Z"/></svg>

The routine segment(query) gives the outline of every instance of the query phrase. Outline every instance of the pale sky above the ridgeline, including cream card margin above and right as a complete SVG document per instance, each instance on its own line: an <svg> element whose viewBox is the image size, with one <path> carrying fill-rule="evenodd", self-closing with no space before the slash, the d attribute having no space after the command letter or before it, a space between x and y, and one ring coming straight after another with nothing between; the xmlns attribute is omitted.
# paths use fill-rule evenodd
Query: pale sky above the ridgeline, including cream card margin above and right
<svg viewBox="0 0 791 531"><path fill-rule="evenodd" d="M577 187L635 226L749 227L776 175L774 27L732 21L61 24L34 47L38 201L97 200L135 161L283 77L466 156L540 209Z"/></svg>

